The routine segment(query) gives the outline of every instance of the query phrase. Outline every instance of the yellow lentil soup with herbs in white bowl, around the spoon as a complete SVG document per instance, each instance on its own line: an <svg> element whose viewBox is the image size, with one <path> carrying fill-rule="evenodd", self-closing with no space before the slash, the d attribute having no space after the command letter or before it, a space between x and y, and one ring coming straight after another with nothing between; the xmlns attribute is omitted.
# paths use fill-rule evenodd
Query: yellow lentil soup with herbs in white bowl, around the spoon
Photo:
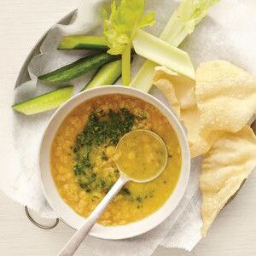
<svg viewBox="0 0 256 256"><path fill-rule="evenodd" d="M172 195L181 169L181 149L166 117L135 97L99 96L68 114L51 148L56 188L79 215L88 217L117 181L116 146L121 137L134 130L153 131L162 138L168 153L166 169L151 182L126 183L99 223L122 225L140 220Z"/></svg>

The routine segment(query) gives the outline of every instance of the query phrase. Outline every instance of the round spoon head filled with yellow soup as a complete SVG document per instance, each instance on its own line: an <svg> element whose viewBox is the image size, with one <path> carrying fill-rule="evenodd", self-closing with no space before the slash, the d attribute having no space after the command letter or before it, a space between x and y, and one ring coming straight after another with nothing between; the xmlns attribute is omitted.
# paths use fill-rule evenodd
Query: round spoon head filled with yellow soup
<svg viewBox="0 0 256 256"><path fill-rule="evenodd" d="M117 147L119 171L139 182L153 179L166 165L166 145L153 132L137 130L121 138Z"/></svg>

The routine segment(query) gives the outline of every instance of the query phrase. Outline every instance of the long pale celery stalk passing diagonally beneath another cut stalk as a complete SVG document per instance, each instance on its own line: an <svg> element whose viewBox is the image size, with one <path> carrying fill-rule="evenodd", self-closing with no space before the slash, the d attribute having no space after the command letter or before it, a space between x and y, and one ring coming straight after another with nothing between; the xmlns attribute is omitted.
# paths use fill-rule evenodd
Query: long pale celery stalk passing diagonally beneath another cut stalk
<svg viewBox="0 0 256 256"><path fill-rule="evenodd" d="M183 0L168 21L160 39L177 47L194 31L195 26L207 15L208 9L217 2L218 0ZM145 61L130 86L148 92L156 66L152 61Z"/></svg>

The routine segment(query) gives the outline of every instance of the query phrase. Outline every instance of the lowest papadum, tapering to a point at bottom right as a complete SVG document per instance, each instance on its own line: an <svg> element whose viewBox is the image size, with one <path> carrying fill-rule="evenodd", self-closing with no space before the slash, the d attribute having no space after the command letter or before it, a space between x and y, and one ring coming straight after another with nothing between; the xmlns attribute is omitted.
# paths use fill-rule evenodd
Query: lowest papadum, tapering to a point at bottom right
<svg viewBox="0 0 256 256"><path fill-rule="evenodd" d="M214 143L201 166L202 236L255 166L256 137L248 125L236 133L225 132Z"/></svg>

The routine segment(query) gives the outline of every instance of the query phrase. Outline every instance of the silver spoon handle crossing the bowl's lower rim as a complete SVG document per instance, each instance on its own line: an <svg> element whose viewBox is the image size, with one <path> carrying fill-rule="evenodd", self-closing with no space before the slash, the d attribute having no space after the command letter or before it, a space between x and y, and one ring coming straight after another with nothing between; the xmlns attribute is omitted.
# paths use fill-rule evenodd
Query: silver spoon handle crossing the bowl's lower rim
<svg viewBox="0 0 256 256"><path fill-rule="evenodd" d="M95 210L90 213L90 216L86 219L84 225L67 242L67 245L63 247L58 254L59 256L71 256L77 251L81 242L84 241L85 236L87 236L94 224L96 224L97 219L102 216L102 213L113 200L113 197L119 193L119 190L122 189L126 182L127 179L125 179L125 177L119 177L118 181L113 185L112 189L109 190L108 194L97 205Z"/></svg>

